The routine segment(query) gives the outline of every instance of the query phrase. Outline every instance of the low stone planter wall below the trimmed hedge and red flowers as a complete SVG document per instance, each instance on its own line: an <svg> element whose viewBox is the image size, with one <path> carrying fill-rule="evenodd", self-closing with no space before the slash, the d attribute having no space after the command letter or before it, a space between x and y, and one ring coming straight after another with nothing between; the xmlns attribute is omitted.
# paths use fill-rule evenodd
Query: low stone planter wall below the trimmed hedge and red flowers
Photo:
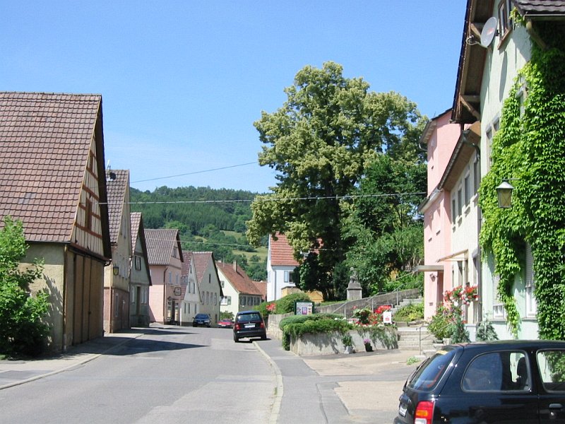
<svg viewBox="0 0 565 424"><path fill-rule="evenodd" d="M355 351L357 352L365 351L363 343L364 338L369 338L371 340L371 346L373 346L373 349L398 348L396 328L392 326L385 327L385 331L386 334L388 334L388 339L390 340L388 343L383 343L383 341L374 338L374 336L371 336L369 331L350 330L349 334L352 338ZM299 356L332 355L335 353L343 353L345 351L345 346L343 346L341 341L342 336L343 335L338 333L338 331L333 331L331 333L304 334L299 338L291 337L290 351Z"/></svg>

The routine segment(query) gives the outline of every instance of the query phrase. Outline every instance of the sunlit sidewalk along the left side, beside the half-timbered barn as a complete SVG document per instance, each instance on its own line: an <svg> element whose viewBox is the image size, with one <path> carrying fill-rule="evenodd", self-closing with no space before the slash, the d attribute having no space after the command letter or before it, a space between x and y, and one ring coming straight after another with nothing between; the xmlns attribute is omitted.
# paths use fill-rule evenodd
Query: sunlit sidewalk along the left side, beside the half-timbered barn
<svg viewBox="0 0 565 424"><path fill-rule="evenodd" d="M130 329L72 346L66 353L26 360L0 360L0 390L70 370L142 335L143 329Z"/></svg>

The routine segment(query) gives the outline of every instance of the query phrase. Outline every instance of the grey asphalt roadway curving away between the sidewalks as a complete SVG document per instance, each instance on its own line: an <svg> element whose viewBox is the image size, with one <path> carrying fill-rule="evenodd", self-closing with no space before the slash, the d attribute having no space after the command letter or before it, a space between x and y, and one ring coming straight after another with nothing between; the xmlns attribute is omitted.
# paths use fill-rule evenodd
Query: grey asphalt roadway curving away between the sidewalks
<svg viewBox="0 0 565 424"><path fill-rule="evenodd" d="M0 423L267 423L276 379L230 329L148 329L96 360L0 391Z"/></svg>

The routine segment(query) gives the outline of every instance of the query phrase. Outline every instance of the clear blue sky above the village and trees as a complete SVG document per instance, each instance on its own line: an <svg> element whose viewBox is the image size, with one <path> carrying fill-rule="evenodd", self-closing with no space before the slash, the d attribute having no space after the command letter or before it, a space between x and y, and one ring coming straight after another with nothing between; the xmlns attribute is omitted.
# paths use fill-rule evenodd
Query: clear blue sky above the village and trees
<svg viewBox="0 0 565 424"><path fill-rule="evenodd" d="M268 192L270 168L233 166L256 163L253 122L299 69L335 61L434 117L453 103L465 4L4 0L0 90L102 94L106 160L137 189Z"/></svg>

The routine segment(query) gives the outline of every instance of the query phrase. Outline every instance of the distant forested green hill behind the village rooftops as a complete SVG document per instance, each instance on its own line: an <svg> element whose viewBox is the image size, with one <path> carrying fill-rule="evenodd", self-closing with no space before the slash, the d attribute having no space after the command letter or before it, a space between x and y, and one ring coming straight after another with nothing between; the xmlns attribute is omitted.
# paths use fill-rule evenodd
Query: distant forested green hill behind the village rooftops
<svg viewBox="0 0 565 424"><path fill-rule="evenodd" d="M210 187L130 189L131 211L143 213L145 228L177 228L182 248L211 251L215 259L237 260L251 278L266 279L264 249L249 246L246 220L257 193Z"/></svg>

